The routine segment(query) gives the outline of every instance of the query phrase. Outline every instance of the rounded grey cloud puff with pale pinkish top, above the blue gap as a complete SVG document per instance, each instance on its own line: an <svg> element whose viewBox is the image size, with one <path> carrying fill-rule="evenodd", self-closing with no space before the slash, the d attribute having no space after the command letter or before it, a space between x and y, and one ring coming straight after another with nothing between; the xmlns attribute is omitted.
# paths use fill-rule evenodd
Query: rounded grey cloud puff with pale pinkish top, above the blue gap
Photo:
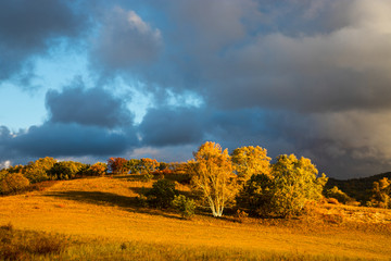
<svg viewBox="0 0 391 261"><path fill-rule="evenodd" d="M135 11L113 8L102 21L91 58L104 70L123 71L156 61L163 38ZM99 67L99 65L98 65Z"/></svg>

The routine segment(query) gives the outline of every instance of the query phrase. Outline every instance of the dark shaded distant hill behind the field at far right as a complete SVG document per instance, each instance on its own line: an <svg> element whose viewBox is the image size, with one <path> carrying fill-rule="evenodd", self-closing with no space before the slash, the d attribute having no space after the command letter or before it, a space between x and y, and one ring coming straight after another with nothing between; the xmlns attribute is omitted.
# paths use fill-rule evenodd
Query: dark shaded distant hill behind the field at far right
<svg viewBox="0 0 391 261"><path fill-rule="evenodd" d="M325 189L329 189L332 188L333 186L337 186L339 189L344 191L349 197L352 197L357 201L360 201L362 204L365 204L365 202L368 201L371 196L374 182L378 182L383 177L391 179L391 172L387 172L369 177L351 178L345 181L329 177L325 186Z"/></svg>

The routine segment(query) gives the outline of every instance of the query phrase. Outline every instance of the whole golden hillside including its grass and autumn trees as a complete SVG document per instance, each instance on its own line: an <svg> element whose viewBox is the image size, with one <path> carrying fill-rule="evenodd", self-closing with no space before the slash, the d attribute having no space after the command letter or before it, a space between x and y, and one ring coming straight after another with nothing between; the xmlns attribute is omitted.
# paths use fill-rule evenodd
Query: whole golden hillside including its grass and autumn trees
<svg viewBox="0 0 391 261"><path fill-rule="evenodd" d="M272 164L261 147L228 154L214 142L202 145L185 163L110 158L87 165L43 158L0 172L4 196L24 192L0 198L0 226L8 235L1 239L0 257L389 257L389 181L374 183L369 201L383 209L355 207L355 199L338 187L325 187L326 182L310 159L282 154ZM71 237L58 250L40 253L41 246L29 243L43 238L46 246L51 234L42 231Z"/></svg>

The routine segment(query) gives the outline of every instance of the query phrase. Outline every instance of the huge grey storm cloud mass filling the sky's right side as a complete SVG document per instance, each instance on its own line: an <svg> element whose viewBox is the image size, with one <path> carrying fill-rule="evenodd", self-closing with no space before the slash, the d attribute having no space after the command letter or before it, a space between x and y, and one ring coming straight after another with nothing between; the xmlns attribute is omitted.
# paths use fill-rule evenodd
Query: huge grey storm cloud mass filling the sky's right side
<svg viewBox="0 0 391 261"><path fill-rule="evenodd" d="M160 26L169 55L144 76L202 96L209 120L195 121L199 137L304 154L333 176L390 169L391 3L187 1L164 10L176 29Z"/></svg>

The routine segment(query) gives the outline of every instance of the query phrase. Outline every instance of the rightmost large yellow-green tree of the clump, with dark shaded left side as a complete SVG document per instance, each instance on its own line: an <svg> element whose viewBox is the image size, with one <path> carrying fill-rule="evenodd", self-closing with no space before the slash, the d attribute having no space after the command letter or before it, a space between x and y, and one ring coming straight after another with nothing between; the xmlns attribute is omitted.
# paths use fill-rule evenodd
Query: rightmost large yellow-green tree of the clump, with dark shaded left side
<svg viewBox="0 0 391 261"><path fill-rule="evenodd" d="M256 215L289 216L300 214L307 201L321 197L327 182L310 159L294 154L279 156L270 175L253 175L237 197L239 208Z"/></svg>

